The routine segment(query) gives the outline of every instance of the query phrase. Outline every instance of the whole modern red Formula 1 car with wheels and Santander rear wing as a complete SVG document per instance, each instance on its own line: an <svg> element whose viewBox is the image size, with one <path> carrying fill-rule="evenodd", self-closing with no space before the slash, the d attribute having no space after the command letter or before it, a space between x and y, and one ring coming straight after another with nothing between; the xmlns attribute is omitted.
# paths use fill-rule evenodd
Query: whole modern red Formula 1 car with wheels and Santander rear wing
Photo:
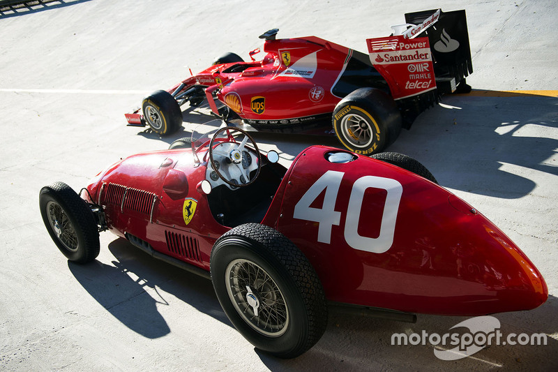
<svg viewBox="0 0 558 372"><path fill-rule="evenodd" d="M260 36L266 52L261 61L252 57L259 49L249 62L227 53L144 98L142 109L126 114L128 125L174 133L182 125L180 106L207 99L229 124L236 119L258 131L335 133L357 154L382 151L439 96L470 90L465 10L405 18L407 24L393 27L395 35L366 40L369 55L315 36L276 39L278 29L270 30Z"/></svg>

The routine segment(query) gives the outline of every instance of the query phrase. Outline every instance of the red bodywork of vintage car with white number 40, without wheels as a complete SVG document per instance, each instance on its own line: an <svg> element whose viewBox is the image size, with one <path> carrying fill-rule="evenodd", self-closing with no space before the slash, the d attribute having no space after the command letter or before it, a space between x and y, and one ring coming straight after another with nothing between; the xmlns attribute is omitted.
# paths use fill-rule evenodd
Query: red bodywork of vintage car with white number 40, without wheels
<svg viewBox="0 0 558 372"><path fill-rule="evenodd" d="M469 204L388 163L355 154L332 163L332 153L351 156L314 146L288 170L276 165L282 177L257 221L299 247L328 300L443 315L520 311L545 302L538 269ZM267 173L242 188L246 193L221 185L205 195L197 185L206 171L190 150L154 151L112 165L88 190L116 235L209 271L213 243L231 228L212 209L230 198L250 204L246 195L265 187ZM211 204L223 190L220 204Z"/></svg>

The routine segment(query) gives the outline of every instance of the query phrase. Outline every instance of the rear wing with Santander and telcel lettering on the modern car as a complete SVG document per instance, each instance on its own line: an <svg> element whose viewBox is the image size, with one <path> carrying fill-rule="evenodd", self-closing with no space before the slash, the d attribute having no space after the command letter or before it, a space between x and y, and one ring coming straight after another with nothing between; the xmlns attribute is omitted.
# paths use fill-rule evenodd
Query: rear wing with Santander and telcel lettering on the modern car
<svg viewBox="0 0 558 372"><path fill-rule="evenodd" d="M442 94L467 89L473 72L465 10L405 14L394 33L366 40L370 62L389 85L405 128ZM469 87L470 89L470 87Z"/></svg>

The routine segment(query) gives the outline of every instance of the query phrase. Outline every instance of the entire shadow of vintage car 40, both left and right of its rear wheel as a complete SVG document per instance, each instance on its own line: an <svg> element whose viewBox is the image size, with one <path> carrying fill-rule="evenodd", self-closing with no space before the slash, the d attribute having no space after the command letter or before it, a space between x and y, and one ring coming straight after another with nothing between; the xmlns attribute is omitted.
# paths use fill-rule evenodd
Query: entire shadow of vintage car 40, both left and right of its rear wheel
<svg viewBox="0 0 558 372"><path fill-rule="evenodd" d="M182 269L154 260L146 253L118 238L109 244L114 260L112 265L95 261L88 265L68 262L77 281L114 318L129 329L146 338L159 338L169 334L169 326L157 306L170 306L165 299L172 295L198 311L232 327L213 292L211 281ZM418 315L416 323L382 320L340 312L329 308L329 323L324 336L308 352L296 359L278 359L255 350L262 362L272 371L322 370L377 370L382 360L390 366L416 369L414 360L430 360L422 365L441 368L448 362L437 359L434 345L396 345L393 334L464 333L467 329L451 329L472 317ZM495 314L501 322L504 337L510 334L556 334L558 332L558 299L548 301L532 311ZM184 320L188 321L188 320ZM439 348L448 350L453 346ZM558 341L547 337L547 345L485 345L476 354L454 362L453 366L466 369L529 369L546 355L545 348L558 348ZM417 356L421 354L422 356ZM545 366L555 366L546 361Z"/></svg>

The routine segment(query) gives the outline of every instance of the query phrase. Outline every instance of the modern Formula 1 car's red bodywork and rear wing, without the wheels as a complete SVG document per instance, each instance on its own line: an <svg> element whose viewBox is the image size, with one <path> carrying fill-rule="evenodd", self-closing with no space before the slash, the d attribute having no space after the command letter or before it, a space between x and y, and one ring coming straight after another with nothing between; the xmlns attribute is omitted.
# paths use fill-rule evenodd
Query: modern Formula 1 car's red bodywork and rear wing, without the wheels
<svg viewBox="0 0 558 372"><path fill-rule="evenodd" d="M278 30L270 30L262 35L266 40L261 60L252 57L257 49L250 53L250 62L211 66L167 91L179 105L188 101L197 105L200 97L207 98L216 115L240 118L258 131L288 128L312 133L318 124L331 125L331 114L342 98L356 89L375 88L393 98L403 126L410 128L418 114L440 95L455 91L472 73L465 11L438 17L440 13L430 10L405 15L411 17L408 22L423 26L414 27L420 32L366 39L362 47L367 45L369 54L315 36L276 39ZM445 22L439 21L444 17ZM435 27L426 30L434 22L439 31ZM451 39L458 47L437 47L448 37L447 32L439 34L442 29L460 40ZM219 111L215 99L232 114ZM140 110L126 114L126 119L130 125L144 121Z"/></svg>

